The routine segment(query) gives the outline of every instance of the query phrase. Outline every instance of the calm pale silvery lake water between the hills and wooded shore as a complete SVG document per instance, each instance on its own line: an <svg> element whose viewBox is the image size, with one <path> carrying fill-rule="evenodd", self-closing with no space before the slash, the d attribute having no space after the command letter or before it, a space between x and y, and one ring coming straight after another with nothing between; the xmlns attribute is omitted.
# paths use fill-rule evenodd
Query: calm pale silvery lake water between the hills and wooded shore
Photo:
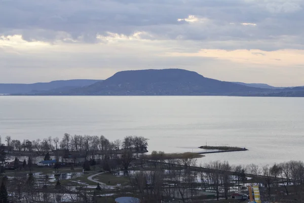
<svg viewBox="0 0 304 203"><path fill-rule="evenodd" d="M272 164L303 160L304 98L220 96L0 96L0 135L13 139L103 134L136 135L148 150L200 151L199 146L246 147L208 154L200 162Z"/></svg>

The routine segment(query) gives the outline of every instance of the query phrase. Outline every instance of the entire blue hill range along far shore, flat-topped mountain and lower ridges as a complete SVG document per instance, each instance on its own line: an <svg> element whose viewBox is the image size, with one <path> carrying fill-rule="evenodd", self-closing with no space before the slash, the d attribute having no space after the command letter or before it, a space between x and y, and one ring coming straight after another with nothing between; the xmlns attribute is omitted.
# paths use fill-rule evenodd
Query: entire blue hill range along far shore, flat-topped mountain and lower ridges
<svg viewBox="0 0 304 203"><path fill-rule="evenodd" d="M16 88L18 85L23 89ZM3 86L13 87L11 95L304 96L304 87L277 88L267 84L224 82L182 69L122 71L106 80L0 84L0 94L7 93L1 91Z"/></svg>

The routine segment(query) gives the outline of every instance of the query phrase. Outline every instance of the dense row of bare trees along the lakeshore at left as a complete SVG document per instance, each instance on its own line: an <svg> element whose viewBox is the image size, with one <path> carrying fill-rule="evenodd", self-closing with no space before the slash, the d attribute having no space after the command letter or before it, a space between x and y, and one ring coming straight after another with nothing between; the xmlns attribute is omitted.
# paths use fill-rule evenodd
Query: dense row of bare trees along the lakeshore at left
<svg viewBox="0 0 304 203"><path fill-rule="evenodd" d="M9 149L15 151L36 151L36 152L51 152L52 150L64 149L70 152L82 151L107 151L107 150L121 150L134 149L135 151L144 151L147 146L146 138L142 136L127 136L123 140L109 141L104 136L88 136L77 135L71 136L64 133L63 138L59 140L56 138L45 138L36 140L13 140L11 136L5 138L5 144ZM3 145L5 145L3 144Z"/></svg>

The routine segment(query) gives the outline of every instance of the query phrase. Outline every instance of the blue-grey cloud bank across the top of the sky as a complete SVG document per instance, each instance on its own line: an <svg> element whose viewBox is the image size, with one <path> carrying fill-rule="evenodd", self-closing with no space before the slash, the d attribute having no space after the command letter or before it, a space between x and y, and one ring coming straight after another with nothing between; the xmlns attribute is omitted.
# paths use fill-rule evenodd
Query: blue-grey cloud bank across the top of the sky
<svg viewBox="0 0 304 203"><path fill-rule="evenodd" d="M217 41L235 41L226 49L238 49L240 43L251 49L250 42L255 41L253 48L264 50L303 49L303 6L303 1L296 0L1 1L0 18L5 20L0 21L0 33L21 34L27 41L53 42L68 37L96 43L97 33L129 36L146 31L156 40L204 41L209 46L215 42L212 48L221 48ZM206 22L177 21L189 15ZM263 46L265 41L288 36L297 41Z"/></svg>

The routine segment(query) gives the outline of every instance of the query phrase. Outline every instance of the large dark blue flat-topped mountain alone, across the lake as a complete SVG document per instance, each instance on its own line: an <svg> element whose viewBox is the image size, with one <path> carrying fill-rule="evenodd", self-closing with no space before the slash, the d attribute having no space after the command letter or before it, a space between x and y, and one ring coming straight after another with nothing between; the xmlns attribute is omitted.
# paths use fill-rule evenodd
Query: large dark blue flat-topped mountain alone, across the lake
<svg viewBox="0 0 304 203"><path fill-rule="evenodd" d="M240 95L271 92L205 78L182 69L122 71L92 85L58 95Z"/></svg>

